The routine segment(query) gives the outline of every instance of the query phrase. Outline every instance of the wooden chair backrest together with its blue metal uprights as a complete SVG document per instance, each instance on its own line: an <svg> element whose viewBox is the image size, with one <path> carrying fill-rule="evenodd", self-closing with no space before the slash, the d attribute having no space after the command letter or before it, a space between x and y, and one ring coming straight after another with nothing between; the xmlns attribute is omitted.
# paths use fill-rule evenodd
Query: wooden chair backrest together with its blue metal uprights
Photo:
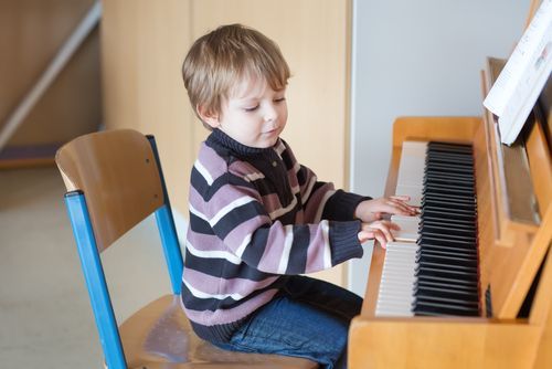
<svg viewBox="0 0 552 369"><path fill-rule="evenodd" d="M99 253L156 213L173 293L180 294L182 254L152 136L107 130L75 138L56 154L96 326L109 368L126 368Z"/></svg>

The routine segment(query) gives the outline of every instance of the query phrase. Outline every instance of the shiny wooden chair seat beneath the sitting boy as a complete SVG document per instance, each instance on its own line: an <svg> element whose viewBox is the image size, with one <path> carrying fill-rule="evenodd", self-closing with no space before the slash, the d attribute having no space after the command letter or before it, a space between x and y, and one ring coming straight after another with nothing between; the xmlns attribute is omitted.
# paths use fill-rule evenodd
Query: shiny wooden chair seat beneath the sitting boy
<svg viewBox="0 0 552 369"><path fill-rule="evenodd" d="M162 296L128 318L120 337L129 368L317 368L302 358L222 350L199 338L180 296ZM168 363L170 362L170 363Z"/></svg>

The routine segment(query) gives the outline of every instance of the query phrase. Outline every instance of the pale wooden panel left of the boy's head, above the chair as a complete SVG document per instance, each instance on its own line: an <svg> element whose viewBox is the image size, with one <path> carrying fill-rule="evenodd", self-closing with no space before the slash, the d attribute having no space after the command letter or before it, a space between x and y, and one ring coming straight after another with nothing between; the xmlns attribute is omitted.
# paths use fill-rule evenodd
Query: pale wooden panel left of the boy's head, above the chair
<svg viewBox="0 0 552 369"><path fill-rule="evenodd" d="M104 1L102 64L107 128L156 136L173 207L188 213L195 144L180 68L191 44L190 1Z"/></svg>

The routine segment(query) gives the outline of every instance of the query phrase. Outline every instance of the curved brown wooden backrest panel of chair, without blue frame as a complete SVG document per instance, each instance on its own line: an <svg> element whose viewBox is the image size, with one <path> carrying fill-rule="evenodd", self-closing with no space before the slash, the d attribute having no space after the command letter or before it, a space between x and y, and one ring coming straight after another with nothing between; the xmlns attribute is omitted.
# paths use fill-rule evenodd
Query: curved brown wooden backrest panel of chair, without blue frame
<svg viewBox="0 0 552 369"><path fill-rule="evenodd" d="M134 130L81 136L56 154L67 191L85 193L100 251L163 204L148 139Z"/></svg>

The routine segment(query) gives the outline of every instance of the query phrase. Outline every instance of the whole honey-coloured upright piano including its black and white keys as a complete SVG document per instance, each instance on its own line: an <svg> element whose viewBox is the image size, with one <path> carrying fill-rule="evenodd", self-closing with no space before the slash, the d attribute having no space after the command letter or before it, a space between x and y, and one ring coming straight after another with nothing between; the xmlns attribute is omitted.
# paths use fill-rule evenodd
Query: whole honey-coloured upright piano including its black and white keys
<svg viewBox="0 0 552 369"><path fill-rule="evenodd" d="M422 211L374 245L350 368L552 368L551 96L512 146L489 112L395 120L385 194Z"/></svg>

